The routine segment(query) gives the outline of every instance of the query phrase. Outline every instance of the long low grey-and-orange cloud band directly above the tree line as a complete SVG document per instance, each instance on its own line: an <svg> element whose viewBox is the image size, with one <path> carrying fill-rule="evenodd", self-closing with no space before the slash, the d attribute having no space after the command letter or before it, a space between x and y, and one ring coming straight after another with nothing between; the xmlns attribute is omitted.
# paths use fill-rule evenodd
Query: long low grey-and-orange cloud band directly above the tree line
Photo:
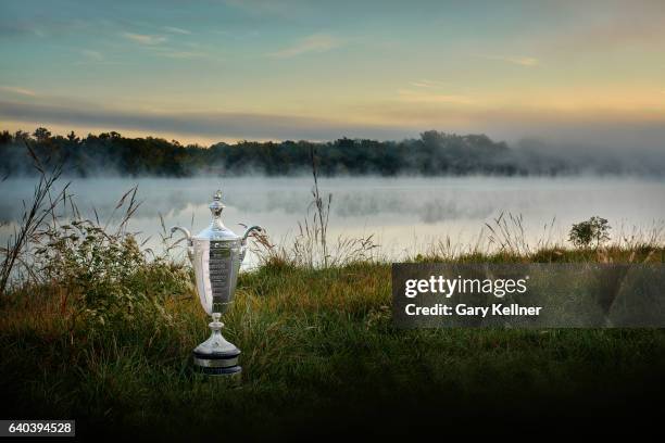
<svg viewBox="0 0 665 443"><path fill-rule="evenodd" d="M419 102L391 101L351 109L347 119L302 115L235 112L156 112L109 109L98 103L52 97L32 102L0 100L0 121L15 128L60 127L134 132L197 140L334 140L340 137L399 140L426 129L485 132L492 138L515 140L537 137L566 143L592 143L615 149L663 151L665 112L645 121L631 113L557 113L543 109L443 106L454 96L425 98ZM39 94L38 97L42 97ZM406 100L410 98L406 97ZM24 99L25 100L25 99ZM425 102L423 102L425 100ZM426 102L430 100L430 102ZM363 121L353 115L362 114ZM172 135L172 136L171 136Z"/></svg>

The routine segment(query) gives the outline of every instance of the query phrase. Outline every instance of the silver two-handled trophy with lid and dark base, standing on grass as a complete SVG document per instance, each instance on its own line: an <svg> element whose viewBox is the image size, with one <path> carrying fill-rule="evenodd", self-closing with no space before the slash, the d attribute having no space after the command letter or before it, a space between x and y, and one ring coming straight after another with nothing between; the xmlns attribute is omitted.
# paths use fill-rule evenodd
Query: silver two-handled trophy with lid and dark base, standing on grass
<svg viewBox="0 0 665 443"><path fill-rule="evenodd" d="M193 237L179 226L171 228L171 232L180 230L187 237L187 255L195 269L201 306L212 316L209 325L212 334L193 350L195 365L204 374L230 376L240 374L240 350L222 336L224 324L219 318L234 301L240 264L247 252L247 238L253 230L262 228L252 226L242 236L237 236L222 223L224 207L222 191L217 191L210 204L213 219L208 228Z"/></svg>

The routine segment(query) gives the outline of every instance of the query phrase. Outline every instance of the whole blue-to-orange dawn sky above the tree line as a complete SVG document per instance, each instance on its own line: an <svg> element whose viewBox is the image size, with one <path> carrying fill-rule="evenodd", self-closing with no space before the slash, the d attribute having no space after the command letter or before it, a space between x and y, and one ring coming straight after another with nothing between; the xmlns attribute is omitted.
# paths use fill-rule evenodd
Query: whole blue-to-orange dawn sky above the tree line
<svg viewBox="0 0 665 443"><path fill-rule="evenodd" d="M665 151L665 1L0 0L0 129Z"/></svg>

